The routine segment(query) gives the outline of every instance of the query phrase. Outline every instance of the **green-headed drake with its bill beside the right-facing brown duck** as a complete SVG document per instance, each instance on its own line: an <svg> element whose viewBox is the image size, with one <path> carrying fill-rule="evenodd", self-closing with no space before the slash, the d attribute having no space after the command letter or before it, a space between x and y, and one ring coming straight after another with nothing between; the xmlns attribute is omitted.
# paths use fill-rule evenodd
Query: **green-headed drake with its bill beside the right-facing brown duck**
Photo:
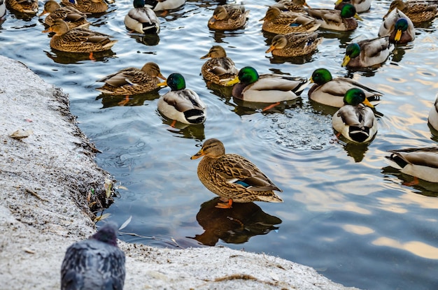
<svg viewBox="0 0 438 290"><path fill-rule="evenodd" d="M202 124L206 120L206 105L192 89L185 88L181 73L171 73L158 86L169 86L171 91L158 99L158 111L165 117L184 124Z"/></svg>

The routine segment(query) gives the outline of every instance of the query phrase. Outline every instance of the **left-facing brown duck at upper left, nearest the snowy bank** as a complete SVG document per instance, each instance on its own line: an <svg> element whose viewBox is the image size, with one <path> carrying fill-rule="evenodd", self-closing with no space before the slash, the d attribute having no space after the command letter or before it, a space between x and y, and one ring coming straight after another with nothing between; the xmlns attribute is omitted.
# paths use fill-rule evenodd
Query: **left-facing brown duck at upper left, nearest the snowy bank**
<svg viewBox="0 0 438 290"><path fill-rule="evenodd" d="M55 20L43 32L55 32L50 47L64 52L101 52L110 50L116 43L111 36L84 28L69 29L64 20ZM91 58L91 55L90 55Z"/></svg>

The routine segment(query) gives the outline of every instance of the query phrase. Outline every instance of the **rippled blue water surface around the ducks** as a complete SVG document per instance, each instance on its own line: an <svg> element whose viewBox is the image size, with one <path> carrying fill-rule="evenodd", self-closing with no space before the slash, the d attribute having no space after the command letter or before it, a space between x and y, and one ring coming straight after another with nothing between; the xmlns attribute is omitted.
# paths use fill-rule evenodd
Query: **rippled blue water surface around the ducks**
<svg viewBox="0 0 438 290"><path fill-rule="evenodd" d="M136 235L121 235L123 240L159 247L227 245L312 266L347 286L436 289L438 186L402 185L412 177L389 168L384 156L391 149L437 143L427 124L438 91L437 20L417 28L416 40L398 47L380 68L353 71L340 66L346 43L376 36L390 1L374 0L355 31L322 31L323 44L305 59L264 54L271 36L262 33L258 20L273 3L247 1L246 28L222 33L206 26L217 2L188 1L160 17L158 38L146 38L127 32L123 17L132 3L116 0L108 13L90 17L92 29L118 39L97 61L51 50L42 19L8 13L0 27L0 53L69 93L80 128L103 152L99 165L127 188L105 211L120 224L132 216L123 231ZM309 4L332 8L331 1ZM325 67L384 92L376 108L376 138L367 147L333 142L334 110L310 103L307 89L297 102L262 113L207 88L199 57L215 44L238 67L307 78ZM204 125L169 126L157 113L157 98L168 88L135 96L127 106L95 90L101 85L95 80L147 61L157 62L166 76L185 76L208 106ZM190 160L206 138L219 138L227 152L257 164L283 189L284 203L236 204L231 213L213 208L215 195L197 179L198 161Z"/></svg>

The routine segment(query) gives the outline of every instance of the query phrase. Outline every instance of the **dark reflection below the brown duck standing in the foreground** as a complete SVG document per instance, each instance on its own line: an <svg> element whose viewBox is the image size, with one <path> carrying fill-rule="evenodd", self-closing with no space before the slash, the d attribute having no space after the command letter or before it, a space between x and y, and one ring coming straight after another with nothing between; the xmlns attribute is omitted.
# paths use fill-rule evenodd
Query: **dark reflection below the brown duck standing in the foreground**
<svg viewBox="0 0 438 290"><path fill-rule="evenodd" d="M196 215L204 229L194 238L203 245L214 246L220 240L232 244L247 242L254 235L266 235L269 231L279 229L281 219L263 212L255 203L233 203L229 209L216 208L220 198L202 203Z"/></svg>

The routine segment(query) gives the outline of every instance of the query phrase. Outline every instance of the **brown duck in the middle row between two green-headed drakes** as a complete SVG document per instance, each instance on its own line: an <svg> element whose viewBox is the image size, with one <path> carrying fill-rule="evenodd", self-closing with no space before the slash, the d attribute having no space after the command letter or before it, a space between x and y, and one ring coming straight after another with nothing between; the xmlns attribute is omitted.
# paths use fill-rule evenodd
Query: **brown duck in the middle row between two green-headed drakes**
<svg viewBox="0 0 438 290"><path fill-rule="evenodd" d="M209 53L201 59L209 58L201 68L204 79L213 82L216 85L226 85L229 80L237 77L239 70L236 68L234 61L227 57L227 52L220 45L213 45Z"/></svg>

